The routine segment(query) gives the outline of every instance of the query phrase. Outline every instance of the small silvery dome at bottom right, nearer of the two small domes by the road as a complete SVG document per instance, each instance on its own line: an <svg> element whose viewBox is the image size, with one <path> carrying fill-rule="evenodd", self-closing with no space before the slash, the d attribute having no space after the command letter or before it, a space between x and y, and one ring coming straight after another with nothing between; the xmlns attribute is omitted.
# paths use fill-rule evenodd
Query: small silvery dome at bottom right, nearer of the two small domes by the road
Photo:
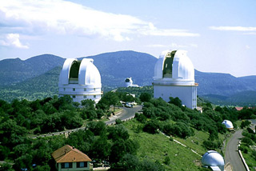
<svg viewBox="0 0 256 171"><path fill-rule="evenodd" d="M207 151L202 156L202 166L218 166L221 170L224 170L225 161L221 154L214 150Z"/></svg>

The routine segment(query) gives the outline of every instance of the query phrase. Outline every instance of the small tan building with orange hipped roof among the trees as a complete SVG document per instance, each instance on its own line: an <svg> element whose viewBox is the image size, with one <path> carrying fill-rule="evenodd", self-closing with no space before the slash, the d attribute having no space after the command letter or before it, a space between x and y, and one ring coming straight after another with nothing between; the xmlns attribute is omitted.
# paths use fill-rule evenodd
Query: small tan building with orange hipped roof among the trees
<svg viewBox="0 0 256 171"><path fill-rule="evenodd" d="M70 145L57 149L51 155L56 161L58 171L83 171L93 168L90 157Z"/></svg>

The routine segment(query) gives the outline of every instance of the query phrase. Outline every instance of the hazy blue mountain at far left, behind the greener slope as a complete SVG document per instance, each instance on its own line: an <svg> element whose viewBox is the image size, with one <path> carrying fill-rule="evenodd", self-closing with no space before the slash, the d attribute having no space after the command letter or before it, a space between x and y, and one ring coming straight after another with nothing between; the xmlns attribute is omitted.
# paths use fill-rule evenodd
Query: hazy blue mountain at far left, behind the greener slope
<svg viewBox="0 0 256 171"><path fill-rule="evenodd" d="M0 85L11 85L34 78L62 66L64 58L52 54L42 54L22 61L20 58L0 61Z"/></svg>

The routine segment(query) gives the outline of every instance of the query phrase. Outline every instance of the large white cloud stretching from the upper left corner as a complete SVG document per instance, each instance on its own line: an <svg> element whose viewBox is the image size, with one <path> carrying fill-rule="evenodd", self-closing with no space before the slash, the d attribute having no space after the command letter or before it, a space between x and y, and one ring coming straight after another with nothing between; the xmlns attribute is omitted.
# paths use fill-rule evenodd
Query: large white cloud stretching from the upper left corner
<svg viewBox="0 0 256 171"><path fill-rule="evenodd" d="M63 0L0 1L0 24L20 34L73 34L128 41L130 34L194 37L188 30L158 29L125 14L94 10Z"/></svg>

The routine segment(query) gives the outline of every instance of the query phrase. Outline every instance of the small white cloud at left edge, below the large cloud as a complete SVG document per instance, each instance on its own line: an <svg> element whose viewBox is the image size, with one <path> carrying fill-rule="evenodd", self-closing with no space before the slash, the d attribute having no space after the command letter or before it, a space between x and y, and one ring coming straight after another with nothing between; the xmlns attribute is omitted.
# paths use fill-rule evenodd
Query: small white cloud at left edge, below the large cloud
<svg viewBox="0 0 256 171"><path fill-rule="evenodd" d="M20 49L28 49L29 46L22 45L19 41L19 34L7 34L6 38L0 40L2 46L14 46Z"/></svg>

